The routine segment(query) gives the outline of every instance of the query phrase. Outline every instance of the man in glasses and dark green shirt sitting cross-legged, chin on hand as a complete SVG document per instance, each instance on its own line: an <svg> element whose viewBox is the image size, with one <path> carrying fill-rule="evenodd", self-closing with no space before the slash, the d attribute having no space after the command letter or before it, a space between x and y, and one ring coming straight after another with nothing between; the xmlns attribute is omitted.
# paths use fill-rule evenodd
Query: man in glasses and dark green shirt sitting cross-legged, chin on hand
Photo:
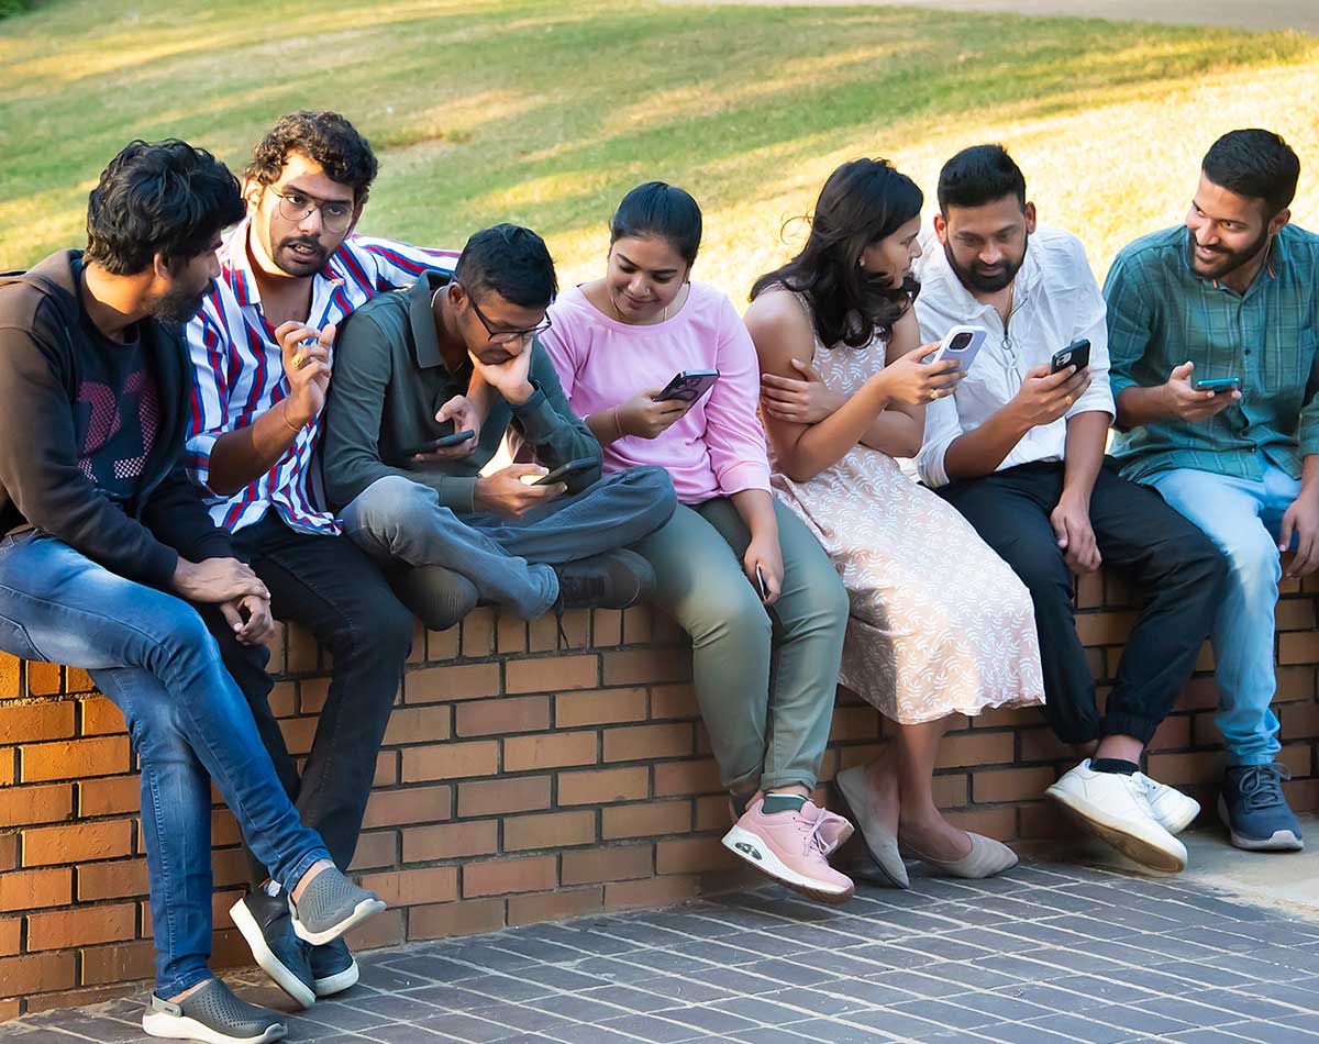
<svg viewBox="0 0 1319 1044"><path fill-rule="evenodd" d="M524 620L649 594L653 571L621 548L677 505L662 468L600 477L600 446L536 336L555 290L534 232L477 232L452 277L426 273L346 322L323 419L324 492L347 535L385 564L443 566L468 608ZM536 463L483 475L509 428Z"/></svg>

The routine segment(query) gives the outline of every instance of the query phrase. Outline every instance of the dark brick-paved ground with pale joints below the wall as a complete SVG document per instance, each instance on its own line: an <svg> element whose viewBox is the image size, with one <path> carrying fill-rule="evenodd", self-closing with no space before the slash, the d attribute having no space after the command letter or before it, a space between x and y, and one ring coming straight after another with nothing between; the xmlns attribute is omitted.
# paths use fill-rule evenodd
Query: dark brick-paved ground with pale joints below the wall
<svg viewBox="0 0 1319 1044"><path fill-rule="evenodd" d="M383 950L289 1040L1319 1044L1319 917L1049 863L913 886L842 908L766 887ZM289 1006L259 973L235 981ZM136 1044L140 1015L140 999L46 1012L0 1040Z"/></svg>

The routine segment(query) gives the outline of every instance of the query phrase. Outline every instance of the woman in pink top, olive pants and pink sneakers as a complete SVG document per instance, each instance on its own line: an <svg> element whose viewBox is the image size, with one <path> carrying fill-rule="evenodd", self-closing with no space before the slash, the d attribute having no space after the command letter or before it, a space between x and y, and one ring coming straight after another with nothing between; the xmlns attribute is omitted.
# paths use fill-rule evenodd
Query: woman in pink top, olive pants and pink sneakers
<svg viewBox="0 0 1319 1044"><path fill-rule="evenodd" d="M756 349L732 303L691 282L700 208L648 182L609 227L605 276L550 307L541 336L604 471L669 469L679 506L634 550L656 605L691 635L696 699L736 823L724 845L806 895L843 902L827 857L852 833L810 800L828 740L848 601L828 556L769 486ZM718 370L692 401L661 390ZM770 658L777 654L770 692Z"/></svg>

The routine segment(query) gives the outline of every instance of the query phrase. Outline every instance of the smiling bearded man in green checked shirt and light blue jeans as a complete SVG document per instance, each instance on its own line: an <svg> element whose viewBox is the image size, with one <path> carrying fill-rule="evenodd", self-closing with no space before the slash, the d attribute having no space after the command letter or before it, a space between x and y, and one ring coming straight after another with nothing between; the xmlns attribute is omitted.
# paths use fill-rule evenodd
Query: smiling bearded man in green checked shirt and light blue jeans
<svg viewBox="0 0 1319 1044"><path fill-rule="evenodd" d="M1206 154L1184 225L1125 246L1104 286L1112 452L1223 550L1215 718L1232 842L1302 848L1274 762L1274 606L1319 566L1319 236L1287 224L1301 163L1269 130Z"/></svg>

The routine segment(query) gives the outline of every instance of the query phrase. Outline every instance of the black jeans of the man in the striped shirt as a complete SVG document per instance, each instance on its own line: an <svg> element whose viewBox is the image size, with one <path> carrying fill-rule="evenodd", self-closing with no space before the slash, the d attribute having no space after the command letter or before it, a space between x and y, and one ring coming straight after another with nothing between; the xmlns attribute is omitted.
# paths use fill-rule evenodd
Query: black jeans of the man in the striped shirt
<svg viewBox="0 0 1319 1044"><path fill-rule="evenodd" d="M270 588L274 616L307 627L334 658L330 691L299 779L270 712L265 646L240 645L218 613L206 614L302 823L324 838L335 865L347 870L412 646L412 612L351 540L291 530L273 509L236 533L233 546ZM252 883L265 881L265 867L251 853L248 858Z"/></svg>

